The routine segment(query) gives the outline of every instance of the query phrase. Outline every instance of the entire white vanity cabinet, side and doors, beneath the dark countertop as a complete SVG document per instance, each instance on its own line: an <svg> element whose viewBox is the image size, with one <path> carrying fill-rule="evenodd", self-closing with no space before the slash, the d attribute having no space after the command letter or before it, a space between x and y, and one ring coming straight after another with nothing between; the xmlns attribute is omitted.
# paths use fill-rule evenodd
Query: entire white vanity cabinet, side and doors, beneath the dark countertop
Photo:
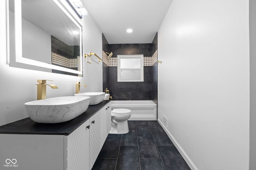
<svg viewBox="0 0 256 170"><path fill-rule="evenodd" d="M110 107L111 102L108 102L69 135L58 133L72 129L65 125L58 128L58 131L39 131L39 134L1 133L0 162L3 164L0 164L2 167L0 169L90 170L110 131ZM69 125L72 126L72 123ZM42 128L44 125L32 123L31 129L37 128L35 126ZM53 125L55 126L58 125ZM13 160L15 164L10 163L9 160Z"/></svg>

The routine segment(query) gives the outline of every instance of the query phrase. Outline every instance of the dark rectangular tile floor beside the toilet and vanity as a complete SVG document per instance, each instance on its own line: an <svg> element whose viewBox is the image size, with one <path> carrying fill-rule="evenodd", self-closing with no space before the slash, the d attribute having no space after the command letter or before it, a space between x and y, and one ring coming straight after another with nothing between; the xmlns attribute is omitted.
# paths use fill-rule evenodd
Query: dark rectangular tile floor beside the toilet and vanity
<svg viewBox="0 0 256 170"><path fill-rule="evenodd" d="M129 133L109 134L92 170L190 170L157 121L128 121Z"/></svg>

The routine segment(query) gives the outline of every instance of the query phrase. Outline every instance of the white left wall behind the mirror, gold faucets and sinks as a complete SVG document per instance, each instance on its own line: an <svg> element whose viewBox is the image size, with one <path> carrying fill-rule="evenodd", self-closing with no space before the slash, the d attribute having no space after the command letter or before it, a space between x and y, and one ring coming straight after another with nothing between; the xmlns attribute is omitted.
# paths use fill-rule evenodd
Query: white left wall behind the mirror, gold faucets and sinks
<svg viewBox="0 0 256 170"><path fill-rule="evenodd" d="M47 87L47 98L73 96L75 82L85 82L88 87L81 87L81 92L102 91L102 62L86 63L83 59L84 77L54 74L14 68L6 64L6 3L0 1L0 125L28 117L24 103L36 100L36 80L54 80L58 89ZM83 21L83 53L102 54L102 32L88 14ZM90 24L88 24L90 23ZM90 41L89 41L90 40Z"/></svg>

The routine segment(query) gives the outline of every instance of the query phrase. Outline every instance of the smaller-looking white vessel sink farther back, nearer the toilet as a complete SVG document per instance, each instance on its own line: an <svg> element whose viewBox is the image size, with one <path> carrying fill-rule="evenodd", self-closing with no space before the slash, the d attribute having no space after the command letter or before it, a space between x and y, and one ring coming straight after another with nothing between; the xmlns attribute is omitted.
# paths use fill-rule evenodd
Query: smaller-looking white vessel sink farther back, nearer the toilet
<svg viewBox="0 0 256 170"><path fill-rule="evenodd" d="M85 92L85 93L75 94L75 96L89 96L90 97L89 105L96 105L104 100L105 92Z"/></svg>

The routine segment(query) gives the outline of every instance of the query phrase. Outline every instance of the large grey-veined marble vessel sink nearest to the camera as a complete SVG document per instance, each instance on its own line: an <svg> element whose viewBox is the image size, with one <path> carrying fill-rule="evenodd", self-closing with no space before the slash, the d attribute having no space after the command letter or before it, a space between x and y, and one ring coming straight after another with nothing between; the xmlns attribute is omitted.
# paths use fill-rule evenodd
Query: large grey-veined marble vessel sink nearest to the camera
<svg viewBox="0 0 256 170"><path fill-rule="evenodd" d="M66 96L25 103L29 117L38 123L61 123L84 113L90 97Z"/></svg>

